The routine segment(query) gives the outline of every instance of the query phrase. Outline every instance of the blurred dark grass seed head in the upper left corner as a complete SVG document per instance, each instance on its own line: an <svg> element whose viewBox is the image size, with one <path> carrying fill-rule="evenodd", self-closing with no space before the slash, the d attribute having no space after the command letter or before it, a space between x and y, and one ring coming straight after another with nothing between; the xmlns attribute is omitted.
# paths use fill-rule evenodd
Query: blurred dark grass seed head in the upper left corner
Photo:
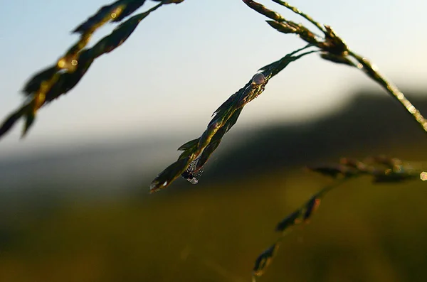
<svg viewBox="0 0 427 282"><path fill-rule="evenodd" d="M22 136L25 136L36 118L36 113L43 105L52 102L60 95L72 90L88 71L93 61L105 53L110 53L129 38L138 24L152 11L164 4L179 4L184 0L153 0L159 2L152 9L123 21L141 7L146 0L117 0L114 3L102 6L93 16L81 23L73 30L78 33L78 42L72 45L56 63L45 70L37 72L23 86L23 94L27 97L19 109L9 114L0 127L0 138L23 117L25 126ZM112 33L100 39L92 48L86 48L93 33L105 23L120 23Z"/></svg>

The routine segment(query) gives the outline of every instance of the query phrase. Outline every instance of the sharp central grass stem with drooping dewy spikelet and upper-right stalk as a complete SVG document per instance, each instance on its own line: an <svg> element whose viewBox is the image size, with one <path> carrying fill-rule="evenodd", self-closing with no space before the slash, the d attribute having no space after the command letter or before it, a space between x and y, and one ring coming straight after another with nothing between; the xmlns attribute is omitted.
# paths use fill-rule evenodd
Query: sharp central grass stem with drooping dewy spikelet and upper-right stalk
<svg viewBox="0 0 427 282"><path fill-rule="evenodd" d="M149 189L151 192L155 192L162 188L166 188L172 183L179 175L182 175L186 179L192 179L194 173L204 166L208 161L211 154L219 146L221 139L231 129L231 126L236 124L238 116L241 114L243 106L248 102L251 102L255 97L258 97L264 91L265 85L270 78L277 75L283 70L288 63L291 61L301 58L302 55L310 53L320 53L320 57L332 61L333 63L339 63L348 65L350 67L356 67L357 69L363 70L372 80L379 83L384 89L391 94L391 97L397 99L401 105L404 106L406 112L411 114L421 126L423 131L427 133L427 120L424 119L421 112L409 102L399 89L394 86L391 82L381 75L376 67L367 59L361 55L357 55L349 49L347 44L337 36L330 26L322 25L315 21L312 17L303 13L294 6L291 6L287 2L280 0L272 0L280 6L284 6L293 13L302 16L310 23L314 24L317 29L322 33L322 36L318 36L315 32L310 31L309 28L303 26L301 23L295 23L287 20L280 13L267 9L262 4L253 0L242 0L251 9L263 14L267 18L270 18L267 23L275 28L275 30L281 33L292 33L299 36L302 40L308 43L305 48L296 50L284 58L266 65L260 69L257 75L253 77L241 90L231 95L215 112L214 118L208 124L206 131L198 138L185 143L179 148L179 151L184 151L179 156L175 163L172 163L169 167L162 171L152 181ZM311 48L311 50L306 50ZM302 50L306 50L302 55L296 56L296 54ZM191 169L190 169L191 168Z"/></svg>

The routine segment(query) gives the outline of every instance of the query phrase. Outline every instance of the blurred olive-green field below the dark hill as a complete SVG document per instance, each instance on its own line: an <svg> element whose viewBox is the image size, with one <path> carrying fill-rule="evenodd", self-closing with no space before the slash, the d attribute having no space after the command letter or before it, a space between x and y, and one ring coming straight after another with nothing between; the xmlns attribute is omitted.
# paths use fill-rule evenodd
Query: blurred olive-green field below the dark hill
<svg viewBox="0 0 427 282"><path fill-rule="evenodd" d="M275 224L329 182L277 171L10 215L0 281L250 281ZM426 281L426 199L421 181L342 185L288 235L260 281Z"/></svg>

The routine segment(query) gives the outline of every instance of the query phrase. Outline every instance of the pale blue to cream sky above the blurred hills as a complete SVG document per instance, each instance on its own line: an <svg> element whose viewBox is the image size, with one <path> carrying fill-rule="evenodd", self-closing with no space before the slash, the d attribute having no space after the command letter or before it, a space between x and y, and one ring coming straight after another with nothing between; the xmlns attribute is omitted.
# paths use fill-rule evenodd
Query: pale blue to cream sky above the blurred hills
<svg viewBox="0 0 427 282"><path fill-rule="evenodd" d="M305 23L273 1L260 1ZM105 0L0 0L0 117L19 107L23 84L75 43L70 33ZM148 9L154 2L139 11ZM427 82L426 1L290 1L329 24L399 87ZM107 25L93 42L110 33ZM260 67L304 45L274 31L241 0L186 0L152 13L112 53L98 58L68 94L43 107L25 139L18 124L0 140L0 158L51 146L141 136L199 136L212 112ZM271 80L237 126L307 121L339 109L361 87L362 72L310 55ZM386 93L384 92L384 95ZM185 140L186 140L185 139ZM179 144L178 144L179 145Z"/></svg>

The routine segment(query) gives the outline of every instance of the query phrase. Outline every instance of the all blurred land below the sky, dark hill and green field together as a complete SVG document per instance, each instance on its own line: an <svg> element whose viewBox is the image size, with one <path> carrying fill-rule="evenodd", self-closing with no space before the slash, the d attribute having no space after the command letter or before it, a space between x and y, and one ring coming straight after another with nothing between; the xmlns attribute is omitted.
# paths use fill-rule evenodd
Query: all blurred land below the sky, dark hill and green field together
<svg viewBox="0 0 427 282"><path fill-rule="evenodd" d="M198 185L180 179L153 195L157 167L135 167L153 151L175 158L160 146L4 161L0 281L251 281L275 225L332 181L305 165L383 153L427 161L425 134L388 97L369 94L311 124L232 136ZM359 178L332 190L259 281L426 281L426 184Z"/></svg>

